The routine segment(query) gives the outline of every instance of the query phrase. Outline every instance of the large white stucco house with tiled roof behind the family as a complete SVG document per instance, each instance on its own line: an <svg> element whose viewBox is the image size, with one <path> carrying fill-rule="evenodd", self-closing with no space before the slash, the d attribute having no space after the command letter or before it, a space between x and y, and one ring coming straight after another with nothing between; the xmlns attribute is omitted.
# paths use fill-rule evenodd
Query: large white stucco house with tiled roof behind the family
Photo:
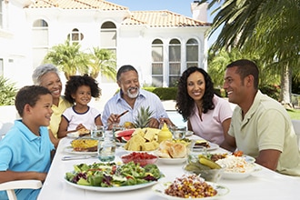
<svg viewBox="0 0 300 200"><path fill-rule="evenodd" d="M82 51L111 49L117 67L136 67L141 84L174 85L187 66L207 67L206 5L186 4L193 18L168 10L131 11L104 0L1 0L0 75L17 86L32 84L32 71L48 49L70 38Z"/></svg>

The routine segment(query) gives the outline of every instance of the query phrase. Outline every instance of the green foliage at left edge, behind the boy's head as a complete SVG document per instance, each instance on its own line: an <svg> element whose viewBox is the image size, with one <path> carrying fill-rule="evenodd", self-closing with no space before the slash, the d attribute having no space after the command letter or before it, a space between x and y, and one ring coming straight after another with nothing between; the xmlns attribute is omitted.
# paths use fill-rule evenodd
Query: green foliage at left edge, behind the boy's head
<svg viewBox="0 0 300 200"><path fill-rule="evenodd" d="M16 92L15 83L9 83L7 78L0 76L0 105L15 105Z"/></svg>

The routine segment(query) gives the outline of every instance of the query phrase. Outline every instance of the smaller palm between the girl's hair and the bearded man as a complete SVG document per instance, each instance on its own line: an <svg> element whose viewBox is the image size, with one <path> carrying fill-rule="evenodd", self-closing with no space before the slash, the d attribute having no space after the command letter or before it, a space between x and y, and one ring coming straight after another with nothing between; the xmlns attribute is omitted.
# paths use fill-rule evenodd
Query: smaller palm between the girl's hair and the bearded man
<svg viewBox="0 0 300 200"><path fill-rule="evenodd" d="M96 78L99 74L105 75L107 78L115 79L116 61L115 53L108 49L100 49L93 47L93 52L90 55L89 74Z"/></svg>

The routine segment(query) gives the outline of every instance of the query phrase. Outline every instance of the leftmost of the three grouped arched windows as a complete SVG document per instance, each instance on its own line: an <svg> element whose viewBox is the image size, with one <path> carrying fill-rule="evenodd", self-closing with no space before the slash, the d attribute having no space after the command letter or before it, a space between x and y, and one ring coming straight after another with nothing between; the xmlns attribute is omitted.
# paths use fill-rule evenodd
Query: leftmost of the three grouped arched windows
<svg viewBox="0 0 300 200"><path fill-rule="evenodd" d="M152 42L152 85L163 86L164 82L164 44L160 39Z"/></svg>

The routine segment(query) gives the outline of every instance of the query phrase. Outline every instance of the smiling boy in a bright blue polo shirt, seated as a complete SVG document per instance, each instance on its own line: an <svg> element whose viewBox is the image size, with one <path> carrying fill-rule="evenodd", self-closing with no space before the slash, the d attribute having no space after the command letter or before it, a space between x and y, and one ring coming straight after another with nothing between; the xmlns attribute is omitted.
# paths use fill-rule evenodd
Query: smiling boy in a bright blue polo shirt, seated
<svg viewBox="0 0 300 200"><path fill-rule="evenodd" d="M15 107L22 117L0 141L0 183L13 180L45 181L55 146L47 125L53 113L52 95L43 86L25 86L15 96ZM38 190L15 190L18 199L36 199ZM0 199L7 199L0 191Z"/></svg>

